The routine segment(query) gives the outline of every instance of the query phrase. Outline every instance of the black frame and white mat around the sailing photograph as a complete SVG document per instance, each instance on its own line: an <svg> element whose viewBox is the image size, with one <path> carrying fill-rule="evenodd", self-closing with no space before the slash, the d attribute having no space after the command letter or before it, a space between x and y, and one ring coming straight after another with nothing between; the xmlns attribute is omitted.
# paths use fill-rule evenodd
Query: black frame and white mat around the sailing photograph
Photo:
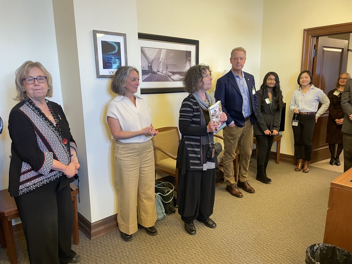
<svg viewBox="0 0 352 264"><path fill-rule="evenodd" d="M195 64L199 63L199 40L195 39L187 39L187 38L177 38L177 37L168 37L168 36L161 36L161 35L155 35L155 34L147 34L147 33L138 33L138 40L149 40L151 45L149 45L149 48L154 48L156 49L164 49L163 46L165 46L165 49L168 49L167 46L173 45L173 46L178 46L177 44L180 44L180 50L182 50L182 47L184 45L189 45L189 49L192 49L191 52L194 52L191 56L194 56L194 62L192 61L190 66L193 66ZM143 44L140 42L140 52L141 52L141 57L142 57L142 47L144 47ZM193 57L192 57L193 58ZM173 81L173 82L168 82L168 87L163 86L165 82L153 82L153 81L148 81L143 82L143 73L145 69L142 66L142 58L141 58L141 64L140 64L140 74L142 75L142 78L140 79L140 93L141 94L158 94L158 93L180 93L184 92L183 86L182 86L182 81ZM181 75L180 75L181 76ZM181 78L181 77L180 77ZM146 87L148 85L149 87ZM155 86L155 87L150 87L150 86Z"/></svg>

